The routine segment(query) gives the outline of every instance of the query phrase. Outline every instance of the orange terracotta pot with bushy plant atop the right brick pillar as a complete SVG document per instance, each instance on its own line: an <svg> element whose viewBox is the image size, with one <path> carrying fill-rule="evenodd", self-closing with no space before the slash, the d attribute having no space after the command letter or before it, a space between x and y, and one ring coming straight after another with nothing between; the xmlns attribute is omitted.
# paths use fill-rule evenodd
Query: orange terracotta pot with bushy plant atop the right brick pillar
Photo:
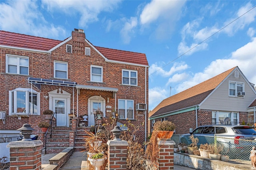
<svg viewBox="0 0 256 170"><path fill-rule="evenodd" d="M154 132L158 133L158 138L162 139L170 139L173 135L173 131L175 129L174 123L171 121L165 120L165 121L156 121L154 123Z"/></svg>

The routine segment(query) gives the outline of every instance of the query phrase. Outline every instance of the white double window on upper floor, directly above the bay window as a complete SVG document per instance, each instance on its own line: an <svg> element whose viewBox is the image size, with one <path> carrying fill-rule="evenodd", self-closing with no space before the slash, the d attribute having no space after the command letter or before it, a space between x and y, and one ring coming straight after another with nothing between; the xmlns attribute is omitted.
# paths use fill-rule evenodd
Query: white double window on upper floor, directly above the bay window
<svg viewBox="0 0 256 170"><path fill-rule="evenodd" d="M28 57L6 55L6 73L28 75Z"/></svg>

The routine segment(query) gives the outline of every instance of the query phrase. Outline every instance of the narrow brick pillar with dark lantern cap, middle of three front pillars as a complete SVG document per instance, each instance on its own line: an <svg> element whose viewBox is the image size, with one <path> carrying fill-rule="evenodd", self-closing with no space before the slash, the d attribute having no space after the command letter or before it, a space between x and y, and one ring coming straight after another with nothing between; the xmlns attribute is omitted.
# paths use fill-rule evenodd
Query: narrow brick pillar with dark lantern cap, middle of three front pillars
<svg viewBox="0 0 256 170"><path fill-rule="evenodd" d="M109 140L108 170L126 170L127 141Z"/></svg>

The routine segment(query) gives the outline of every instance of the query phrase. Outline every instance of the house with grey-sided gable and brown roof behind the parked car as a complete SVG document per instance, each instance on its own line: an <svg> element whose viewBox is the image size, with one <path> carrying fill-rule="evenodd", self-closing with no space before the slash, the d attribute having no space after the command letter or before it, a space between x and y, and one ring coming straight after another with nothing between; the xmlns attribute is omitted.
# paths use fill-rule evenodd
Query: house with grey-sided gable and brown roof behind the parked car
<svg viewBox="0 0 256 170"><path fill-rule="evenodd" d="M255 123L256 91L238 66L163 100L149 113L154 122L175 123L176 133L206 124Z"/></svg>

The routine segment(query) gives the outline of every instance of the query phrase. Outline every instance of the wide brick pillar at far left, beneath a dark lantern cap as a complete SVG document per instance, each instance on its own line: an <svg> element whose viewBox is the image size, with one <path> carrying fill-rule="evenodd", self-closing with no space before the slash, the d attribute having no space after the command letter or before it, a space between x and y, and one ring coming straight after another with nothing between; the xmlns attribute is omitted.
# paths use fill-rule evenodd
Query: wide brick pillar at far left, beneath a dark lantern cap
<svg viewBox="0 0 256 170"><path fill-rule="evenodd" d="M41 170L42 141L10 142L10 170Z"/></svg>

